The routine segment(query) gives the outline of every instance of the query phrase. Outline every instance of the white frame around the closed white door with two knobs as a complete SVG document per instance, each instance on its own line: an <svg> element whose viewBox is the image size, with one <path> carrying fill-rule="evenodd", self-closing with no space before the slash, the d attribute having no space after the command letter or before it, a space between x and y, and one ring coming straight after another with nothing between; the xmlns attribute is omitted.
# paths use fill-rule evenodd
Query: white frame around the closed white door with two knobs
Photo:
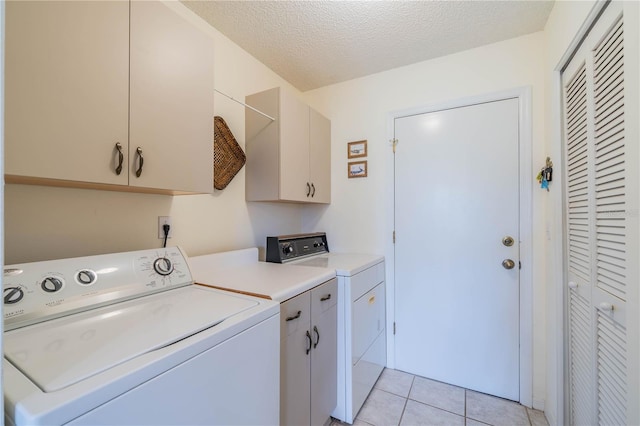
<svg viewBox="0 0 640 426"><path fill-rule="evenodd" d="M426 114L453 108L467 107L506 99L518 99L519 125L519 211L520 211L520 403L533 405L533 168L532 168L532 109L530 86L517 87L500 92L471 96L451 101L391 111L388 113L387 134L393 145L395 119L410 115ZM402 141L398 146L401 146ZM395 222L395 170L394 157L387 163L393 176L387 180L387 235L393 235ZM393 239L385 244L387 263L387 365L395 368L395 254Z"/></svg>

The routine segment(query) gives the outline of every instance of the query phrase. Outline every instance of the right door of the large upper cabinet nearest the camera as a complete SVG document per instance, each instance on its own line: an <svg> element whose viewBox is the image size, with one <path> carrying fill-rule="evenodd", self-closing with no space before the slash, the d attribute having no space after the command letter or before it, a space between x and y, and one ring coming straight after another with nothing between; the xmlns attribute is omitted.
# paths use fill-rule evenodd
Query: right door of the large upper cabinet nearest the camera
<svg viewBox="0 0 640 426"><path fill-rule="evenodd" d="M168 5L131 2L130 80L129 184L212 192L213 40Z"/></svg>

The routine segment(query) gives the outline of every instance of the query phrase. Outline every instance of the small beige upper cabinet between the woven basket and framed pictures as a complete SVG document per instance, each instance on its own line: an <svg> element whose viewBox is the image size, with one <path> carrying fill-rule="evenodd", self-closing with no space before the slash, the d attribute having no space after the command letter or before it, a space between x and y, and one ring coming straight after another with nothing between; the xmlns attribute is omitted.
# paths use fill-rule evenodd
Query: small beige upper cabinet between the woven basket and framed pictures
<svg viewBox="0 0 640 426"><path fill-rule="evenodd" d="M281 88L249 95L247 201L331 202L331 122Z"/></svg>

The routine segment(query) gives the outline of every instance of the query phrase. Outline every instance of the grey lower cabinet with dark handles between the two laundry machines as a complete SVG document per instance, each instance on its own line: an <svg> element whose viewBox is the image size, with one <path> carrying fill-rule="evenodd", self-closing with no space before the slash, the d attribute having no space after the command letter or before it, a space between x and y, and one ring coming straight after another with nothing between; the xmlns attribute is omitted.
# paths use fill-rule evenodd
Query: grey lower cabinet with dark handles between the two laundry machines
<svg viewBox="0 0 640 426"><path fill-rule="evenodd" d="M280 308L280 424L323 425L337 402L337 281Z"/></svg>

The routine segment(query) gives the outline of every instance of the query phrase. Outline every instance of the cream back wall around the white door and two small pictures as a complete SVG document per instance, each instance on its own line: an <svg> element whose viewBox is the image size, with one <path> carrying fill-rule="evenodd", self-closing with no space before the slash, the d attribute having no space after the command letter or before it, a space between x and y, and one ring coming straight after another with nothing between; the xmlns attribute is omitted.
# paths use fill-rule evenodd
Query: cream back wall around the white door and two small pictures
<svg viewBox="0 0 640 426"><path fill-rule="evenodd" d="M332 204L305 207L303 229L325 230L333 250L385 254L393 286L393 156L388 129L392 111L436 104L516 87L532 88L533 169L548 155L544 144L544 36L535 33L458 54L397 68L306 92L305 98L331 119ZM367 139L365 179L347 179L347 142ZM402 141L398 149L402 149ZM416 189L425 184L416 182ZM432 185L446 182L432 182ZM478 185L491 185L479 176ZM533 190L533 403L543 408L546 383L545 214L549 194Z"/></svg>

